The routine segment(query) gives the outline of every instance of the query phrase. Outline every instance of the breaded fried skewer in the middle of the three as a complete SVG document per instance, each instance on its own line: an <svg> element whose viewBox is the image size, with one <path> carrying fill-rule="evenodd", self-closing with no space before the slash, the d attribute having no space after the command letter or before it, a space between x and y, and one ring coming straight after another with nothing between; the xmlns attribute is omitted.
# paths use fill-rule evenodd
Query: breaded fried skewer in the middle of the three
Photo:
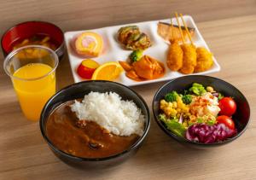
<svg viewBox="0 0 256 180"><path fill-rule="evenodd" d="M193 44L182 44L183 49L183 67L180 73L193 73L196 66L196 49Z"/></svg>

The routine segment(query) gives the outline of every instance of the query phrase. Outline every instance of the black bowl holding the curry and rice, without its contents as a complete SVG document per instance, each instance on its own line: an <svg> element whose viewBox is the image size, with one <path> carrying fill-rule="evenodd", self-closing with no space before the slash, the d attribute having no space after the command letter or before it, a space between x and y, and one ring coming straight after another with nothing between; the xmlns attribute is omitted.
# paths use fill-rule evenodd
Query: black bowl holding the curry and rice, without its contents
<svg viewBox="0 0 256 180"><path fill-rule="evenodd" d="M137 140L137 142L132 144L131 147L126 149L124 152L104 158L80 158L77 156L73 156L71 154L67 154L61 151L60 149L56 148L55 145L52 142L50 142L50 139L46 136L45 125L49 117L49 114L55 109L55 107L58 107L63 102L84 98L84 95L89 94L90 91L116 92L117 94L119 94L119 96L122 97L122 99L131 100L137 104L137 107L141 108L142 113L144 114L146 119L143 136L141 136ZM130 157L132 154L135 154L137 152L137 149L141 147L145 140L145 137L148 134L150 126L150 117L148 106L146 102L144 102L143 97L139 96L134 90L131 90L125 85L110 81L84 81L81 83L69 85L66 88L57 92L54 96L52 96L44 106L44 109L41 113L39 124L42 135L44 136L44 140L48 143L49 148L55 153L57 157L66 162L68 165L74 165L76 167L81 168L102 168L109 167L111 165L118 165L119 163L123 162L125 159Z"/></svg>

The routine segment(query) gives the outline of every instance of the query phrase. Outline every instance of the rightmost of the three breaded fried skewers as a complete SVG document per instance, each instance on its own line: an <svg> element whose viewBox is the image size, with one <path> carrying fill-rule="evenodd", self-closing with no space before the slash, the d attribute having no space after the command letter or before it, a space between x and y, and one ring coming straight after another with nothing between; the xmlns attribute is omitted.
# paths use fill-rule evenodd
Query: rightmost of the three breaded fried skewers
<svg viewBox="0 0 256 180"><path fill-rule="evenodd" d="M196 49L196 67L195 73L207 71L213 65L212 53L205 48Z"/></svg>

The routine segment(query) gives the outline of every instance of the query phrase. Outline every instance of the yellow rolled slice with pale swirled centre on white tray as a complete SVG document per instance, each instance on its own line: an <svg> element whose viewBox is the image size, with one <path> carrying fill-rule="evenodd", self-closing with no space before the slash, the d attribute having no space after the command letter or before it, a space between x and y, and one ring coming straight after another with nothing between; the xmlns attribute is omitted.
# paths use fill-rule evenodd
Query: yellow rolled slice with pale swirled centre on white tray
<svg viewBox="0 0 256 180"><path fill-rule="evenodd" d="M96 32L83 32L75 40L75 50L79 55L96 57L103 49L102 36Z"/></svg>

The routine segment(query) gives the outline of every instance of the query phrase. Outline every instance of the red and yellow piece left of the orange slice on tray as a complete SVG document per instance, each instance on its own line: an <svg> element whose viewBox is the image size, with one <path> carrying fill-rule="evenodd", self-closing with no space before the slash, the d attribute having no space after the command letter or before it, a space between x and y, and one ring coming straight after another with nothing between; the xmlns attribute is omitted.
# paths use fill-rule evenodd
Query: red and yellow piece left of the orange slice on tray
<svg viewBox="0 0 256 180"><path fill-rule="evenodd" d="M86 59L81 62L77 72L81 78L90 79L97 67L100 67L100 65L96 61Z"/></svg>

